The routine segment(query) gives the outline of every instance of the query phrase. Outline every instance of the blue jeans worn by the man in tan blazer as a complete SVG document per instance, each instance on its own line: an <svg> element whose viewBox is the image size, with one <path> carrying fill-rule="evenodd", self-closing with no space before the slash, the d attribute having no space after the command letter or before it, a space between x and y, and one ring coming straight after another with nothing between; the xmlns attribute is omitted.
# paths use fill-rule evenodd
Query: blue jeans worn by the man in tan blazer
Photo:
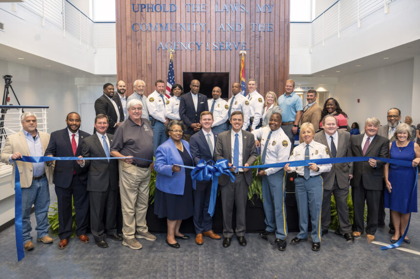
<svg viewBox="0 0 420 279"><path fill-rule="evenodd" d="M50 206L50 191L46 176L39 180L32 180L28 188L22 188L22 231L23 243L32 241L31 237L31 208L35 205L37 219L37 238L48 235L48 207Z"/></svg>

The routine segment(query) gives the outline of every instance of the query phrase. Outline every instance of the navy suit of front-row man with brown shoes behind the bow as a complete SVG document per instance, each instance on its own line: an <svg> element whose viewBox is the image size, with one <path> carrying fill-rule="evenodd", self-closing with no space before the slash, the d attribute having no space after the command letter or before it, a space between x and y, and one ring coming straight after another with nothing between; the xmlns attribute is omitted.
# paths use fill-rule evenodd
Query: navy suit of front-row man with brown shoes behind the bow
<svg viewBox="0 0 420 279"><path fill-rule="evenodd" d="M217 142L217 133L213 132L214 147ZM194 165L198 163L200 159L205 159L206 161L213 159L210 153L209 144L207 139L204 136L203 130L198 131L191 136L189 140L189 150L191 151L192 159L194 160ZM196 190L193 191L194 195L194 227L196 234L202 234L211 230L212 219L209 210L210 203L210 192L211 192L211 180L207 182L196 183Z"/></svg>

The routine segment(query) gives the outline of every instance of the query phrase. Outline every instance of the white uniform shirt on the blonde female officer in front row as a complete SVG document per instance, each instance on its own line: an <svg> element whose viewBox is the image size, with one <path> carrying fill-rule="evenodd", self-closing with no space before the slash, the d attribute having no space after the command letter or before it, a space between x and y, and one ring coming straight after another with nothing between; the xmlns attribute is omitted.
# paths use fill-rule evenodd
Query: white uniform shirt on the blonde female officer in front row
<svg viewBox="0 0 420 279"><path fill-rule="evenodd" d="M292 155L289 158L289 161L300 161L305 159L305 149L306 149L306 143L302 142L298 146L296 146L293 149ZM312 140L309 143L309 159L325 159L330 158L328 155L327 147L319 142L316 142L315 140ZM311 176L319 175L323 172L329 172L331 170L332 164L323 164L318 165L319 171L315 172L314 170L310 170ZM304 167L290 167L290 172L296 172L298 175L303 176L304 175Z"/></svg>

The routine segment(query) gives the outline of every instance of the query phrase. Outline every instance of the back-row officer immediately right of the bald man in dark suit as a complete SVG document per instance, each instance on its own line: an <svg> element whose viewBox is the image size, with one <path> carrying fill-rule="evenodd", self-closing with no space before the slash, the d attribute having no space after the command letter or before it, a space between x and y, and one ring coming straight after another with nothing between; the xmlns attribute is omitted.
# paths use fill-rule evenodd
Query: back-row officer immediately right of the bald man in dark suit
<svg viewBox="0 0 420 279"><path fill-rule="evenodd" d="M213 96L213 99L207 100L210 112L213 114L214 118L211 130L220 134L228 130L226 121L228 120L229 105L227 101L220 98L222 95L222 89L220 89L220 87L215 86L211 91L211 95Z"/></svg>

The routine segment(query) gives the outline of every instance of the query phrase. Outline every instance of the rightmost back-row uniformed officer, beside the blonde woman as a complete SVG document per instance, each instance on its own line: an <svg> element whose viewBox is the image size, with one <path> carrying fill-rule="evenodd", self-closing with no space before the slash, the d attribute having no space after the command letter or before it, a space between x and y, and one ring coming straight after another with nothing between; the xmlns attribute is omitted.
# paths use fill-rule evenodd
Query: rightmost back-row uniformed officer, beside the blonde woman
<svg viewBox="0 0 420 279"><path fill-rule="evenodd" d="M262 112L264 108L264 98L257 92L257 80L248 80L249 94L247 96L250 102L250 126L251 131L261 127L262 124Z"/></svg>

